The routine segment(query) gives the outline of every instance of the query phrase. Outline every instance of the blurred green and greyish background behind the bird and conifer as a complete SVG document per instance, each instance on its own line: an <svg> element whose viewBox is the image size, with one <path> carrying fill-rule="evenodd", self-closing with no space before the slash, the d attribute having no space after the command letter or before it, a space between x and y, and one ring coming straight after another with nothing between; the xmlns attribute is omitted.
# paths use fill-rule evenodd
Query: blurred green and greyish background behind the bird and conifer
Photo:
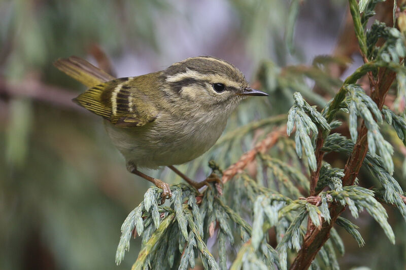
<svg viewBox="0 0 406 270"><path fill-rule="evenodd" d="M270 93L268 100L242 104L230 131L286 113L294 91L324 105L340 78L360 65L346 32L347 1L302 1L292 27L294 15L285 0L0 0L0 269L129 269L139 252L140 240L133 240L124 262L114 264L121 223L150 183L126 171L101 119L71 102L85 87L53 61L77 55L122 77L191 56L225 59ZM304 77L299 68L296 77L283 72L312 66L316 56L327 54L341 56L329 76L313 69ZM342 68L349 58L352 65ZM231 147L221 159L214 150L180 169L191 176L198 171L196 180L202 180L209 171L199 166L203 161L214 158L225 168L254 137L232 145L239 149ZM403 158L397 153L397 168ZM147 173L179 181L166 170ZM388 212L396 246L368 215L355 221L364 248L339 230L344 269L404 269L406 226Z"/></svg>

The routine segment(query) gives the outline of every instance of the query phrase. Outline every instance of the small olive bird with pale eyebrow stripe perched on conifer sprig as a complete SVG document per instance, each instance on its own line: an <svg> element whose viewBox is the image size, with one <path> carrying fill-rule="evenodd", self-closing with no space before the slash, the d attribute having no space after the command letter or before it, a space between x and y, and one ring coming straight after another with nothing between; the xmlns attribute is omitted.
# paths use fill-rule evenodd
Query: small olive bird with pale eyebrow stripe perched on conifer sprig
<svg viewBox="0 0 406 270"><path fill-rule="evenodd" d="M55 66L90 87L73 99L105 119L107 133L126 160L127 170L162 188L170 186L139 168L168 166L196 188L174 165L209 150L234 108L247 96L267 96L251 89L232 64L210 56L191 57L145 75L116 79L79 57L58 59Z"/></svg>

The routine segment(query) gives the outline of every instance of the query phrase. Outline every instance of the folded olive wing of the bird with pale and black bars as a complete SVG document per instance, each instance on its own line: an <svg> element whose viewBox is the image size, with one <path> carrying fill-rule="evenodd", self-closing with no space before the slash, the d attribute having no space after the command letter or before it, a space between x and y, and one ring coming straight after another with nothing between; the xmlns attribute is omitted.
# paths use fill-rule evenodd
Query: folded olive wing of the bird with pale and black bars
<svg viewBox="0 0 406 270"><path fill-rule="evenodd" d="M74 101L116 126L144 126L156 119L158 110L151 98L137 88L136 82L143 81L142 76L98 84Z"/></svg>

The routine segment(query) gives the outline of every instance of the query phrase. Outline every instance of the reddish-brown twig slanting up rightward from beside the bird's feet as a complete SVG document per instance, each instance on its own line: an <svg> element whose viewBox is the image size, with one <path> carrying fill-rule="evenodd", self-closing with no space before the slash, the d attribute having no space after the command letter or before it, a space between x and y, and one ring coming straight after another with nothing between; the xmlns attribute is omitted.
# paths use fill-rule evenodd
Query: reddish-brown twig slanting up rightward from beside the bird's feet
<svg viewBox="0 0 406 270"><path fill-rule="evenodd" d="M286 125L279 127L278 129L269 132L269 134L266 136L265 139L257 143L257 145L249 150L248 152L245 152L243 156L241 156L240 160L228 167L226 170L223 171L223 177L221 180L223 183L228 182L231 180L238 172L244 170L244 168L250 164L252 161L255 160L256 155L258 153L264 153L266 152L269 148L274 146L278 139L281 136L287 136L286 134Z"/></svg>

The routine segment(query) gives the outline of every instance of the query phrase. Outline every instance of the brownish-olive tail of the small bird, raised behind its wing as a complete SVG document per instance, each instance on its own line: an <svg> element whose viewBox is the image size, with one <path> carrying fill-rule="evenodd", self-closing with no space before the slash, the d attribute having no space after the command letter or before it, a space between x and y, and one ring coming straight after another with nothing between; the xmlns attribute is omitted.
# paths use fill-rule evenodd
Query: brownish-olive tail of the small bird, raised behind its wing
<svg viewBox="0 0 406 270"><path fill-rule="evenodd" d="M116 79L112 75L77 56L59 58L54 62L54 65L60 71L66 73L87 87L93 87Z"/></svg>

